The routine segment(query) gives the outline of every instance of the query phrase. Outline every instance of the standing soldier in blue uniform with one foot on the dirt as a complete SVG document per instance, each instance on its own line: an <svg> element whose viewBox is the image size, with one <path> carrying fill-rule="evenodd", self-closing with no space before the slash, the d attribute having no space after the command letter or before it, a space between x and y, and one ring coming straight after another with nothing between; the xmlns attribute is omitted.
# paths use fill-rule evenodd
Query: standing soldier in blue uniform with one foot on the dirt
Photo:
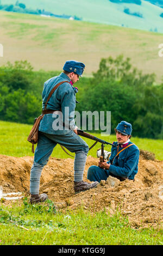
<svg viewBox="0 0 163 256"><path fill-rule="evenodd" d="M72 84L82 77L85 65L82 62L68 60L63 72L59 76L50 78L45 82L42 92L42 109L44 114L39 125L39 140L34 154L34 162L30 171L30 203L45 202L47 194L39 195L40 177L43 167L47 164L54 147L60 144L75 153L74 159L74 191L89 190L98 185L98 182L87 183L83 181L83 173L88 145L77 135L77 126L74 121L74 109L76 107L77 88ZM62 82L48 99L52 88ZM68 109L68 115L67 113ZM55 112L54 112L55 111ZM57 114L62 117L64 123L57 126ZM61 111L61 112L59 112ZM68 127L68 128L67 128Z"/></svg>

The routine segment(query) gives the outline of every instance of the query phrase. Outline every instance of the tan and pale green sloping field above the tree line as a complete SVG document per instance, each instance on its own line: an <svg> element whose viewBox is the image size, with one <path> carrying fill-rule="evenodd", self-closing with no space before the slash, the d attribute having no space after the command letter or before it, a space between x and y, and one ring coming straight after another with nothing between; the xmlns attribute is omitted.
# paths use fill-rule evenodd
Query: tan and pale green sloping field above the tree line
<svg viewBox="0 0 163 256"><path fill-rule="evenodd" d="M111 25L0 11L0 43L8 61L28 60L35 70L62 70L67 59L86 64L84 75L97 71L101 58L123 54L143 73L162 77L158 56L163 35Z"/></svg>

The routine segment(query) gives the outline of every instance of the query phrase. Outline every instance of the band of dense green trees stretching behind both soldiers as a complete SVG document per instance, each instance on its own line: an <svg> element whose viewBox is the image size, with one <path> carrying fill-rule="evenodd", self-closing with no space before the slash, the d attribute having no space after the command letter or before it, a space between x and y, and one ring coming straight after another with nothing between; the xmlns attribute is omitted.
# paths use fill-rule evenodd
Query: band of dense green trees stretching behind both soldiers
<svg viewBox="0 0 163 256"><path fill-rule="evenodd" d="M42 108L43 83L59 71L34 71L27 61L0 67L0 119L33 124ZM142 74L130 59L103 58L93 77L79 80L76 111L111 111L111 132L120 121L133 125L133 136L163 138L163 83Z"/></svg>

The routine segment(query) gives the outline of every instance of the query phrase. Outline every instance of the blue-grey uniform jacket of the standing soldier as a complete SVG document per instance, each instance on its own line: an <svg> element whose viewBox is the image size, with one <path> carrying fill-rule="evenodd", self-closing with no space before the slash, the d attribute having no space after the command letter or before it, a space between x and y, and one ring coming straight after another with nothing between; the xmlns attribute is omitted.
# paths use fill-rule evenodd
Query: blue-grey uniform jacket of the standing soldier
<svg viewBox="0 0 163 256"><path fill-rule="evenodd" d="M45 107L45 103L49 93L52 88L62 82L62 83L52 94L51 98L47 103L47 109L54 109L54 111L62 112L63 121L66 121L70 125L70 129L74 130L76 125L74 121L74 109L76 107L76 93L77 89L74 88L70 82L70 78L65 75L63 72L59 76L50 78L44 83L43 92L42 92L42 109ZM67 115L67 120L65 120L65 107L68 107L69 115ZM67 112L68 113L68 112ZM66 135L70 130L66 130L65 127L62 127L62 130L54 130L55 120L57 123L58 115L57 114L46 114L40 122L39 131L45 132L51 135ZM54 123L53 123L54 122Z"/></svg>

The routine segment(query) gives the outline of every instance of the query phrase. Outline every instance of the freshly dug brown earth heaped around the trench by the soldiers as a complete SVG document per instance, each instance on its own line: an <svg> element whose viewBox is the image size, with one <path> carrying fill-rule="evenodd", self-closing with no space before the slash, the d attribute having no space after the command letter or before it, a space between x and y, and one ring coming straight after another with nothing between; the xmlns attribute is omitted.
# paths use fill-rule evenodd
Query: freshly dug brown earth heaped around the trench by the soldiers
<svg viewBox="0 0 163 256"><path fill-rule="evenodd" d="M78 209L83 205L85 211L96 212L105 209L113 215L120 210L128 216L133 228L161 227L163 221L163 161L147 160L147 151L140 154L139 172L135 181L120 182L109 177L93 190L74 194L73 159L50 157L43 168L40 192L47 193L59 208ZM151 155L152 156L152 155ZM30 168L33 157L10 157L0 155L0 186L3 192L29 192ZM84 171L97 165L98 159L87 157Z"/></svg>

